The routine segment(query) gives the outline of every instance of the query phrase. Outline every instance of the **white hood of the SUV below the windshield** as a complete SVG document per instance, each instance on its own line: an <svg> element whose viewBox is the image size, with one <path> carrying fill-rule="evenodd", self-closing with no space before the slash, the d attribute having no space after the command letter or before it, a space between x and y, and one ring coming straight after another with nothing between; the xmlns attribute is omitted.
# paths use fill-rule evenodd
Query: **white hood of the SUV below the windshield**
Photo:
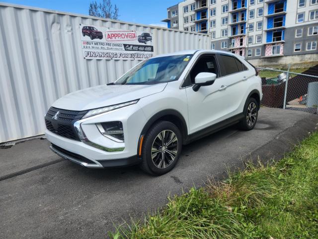
<svg viewBox="0 0 318 239"><path fill-rule="evenodd" d="M71 111L91 110L141 99L163 91L166 85L100 85L70 93L52 106Z"/></svg>

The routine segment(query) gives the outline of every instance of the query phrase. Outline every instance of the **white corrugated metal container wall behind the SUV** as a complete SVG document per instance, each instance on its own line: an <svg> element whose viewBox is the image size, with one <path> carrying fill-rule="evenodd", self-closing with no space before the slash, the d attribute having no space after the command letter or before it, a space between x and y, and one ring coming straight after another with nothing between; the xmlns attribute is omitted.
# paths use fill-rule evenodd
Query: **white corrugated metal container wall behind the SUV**
<svg viewBox="0 0 318 239"><path fill-rule="evenodd" d="M155 54L208 49L204 34L0 3L0 142L44 133L69 92L112 82L137 60L85 60L79 24L152 32Z"/></svg>

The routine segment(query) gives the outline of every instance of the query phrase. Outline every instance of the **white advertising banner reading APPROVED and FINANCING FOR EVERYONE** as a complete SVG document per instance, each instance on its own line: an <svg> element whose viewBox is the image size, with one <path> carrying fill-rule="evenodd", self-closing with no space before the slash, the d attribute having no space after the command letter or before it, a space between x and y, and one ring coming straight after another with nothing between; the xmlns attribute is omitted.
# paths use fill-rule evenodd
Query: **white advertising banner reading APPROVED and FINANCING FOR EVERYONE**
<svg viewBox="0 0 318 239"><path fill-rule="evenodd" d="M80 24L85 59L144 60L154 56L149 32Z"/></svg>

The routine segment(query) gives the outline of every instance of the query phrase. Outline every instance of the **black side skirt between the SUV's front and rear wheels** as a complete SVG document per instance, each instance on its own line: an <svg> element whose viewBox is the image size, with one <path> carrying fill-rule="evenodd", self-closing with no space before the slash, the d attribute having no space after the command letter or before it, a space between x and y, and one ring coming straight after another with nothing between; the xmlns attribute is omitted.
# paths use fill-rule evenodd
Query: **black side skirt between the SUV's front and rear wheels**
<svg viewBox="0 0 318 239"><path fill-rule="evenodd" d="M229 119L225 119L221 122L218 122L216 124L213 124L209 127L203 128L195 133L189 134L188 137L186 138L186 140L184 141L183 144L188 144L191 143L199 138L203 138L209 134L215 133L219 130L222 130L224 128L227 128L233 124L238 123L240 120L242 120L244 118L243 113L240 113L236 116L233 116Z"/></svg>

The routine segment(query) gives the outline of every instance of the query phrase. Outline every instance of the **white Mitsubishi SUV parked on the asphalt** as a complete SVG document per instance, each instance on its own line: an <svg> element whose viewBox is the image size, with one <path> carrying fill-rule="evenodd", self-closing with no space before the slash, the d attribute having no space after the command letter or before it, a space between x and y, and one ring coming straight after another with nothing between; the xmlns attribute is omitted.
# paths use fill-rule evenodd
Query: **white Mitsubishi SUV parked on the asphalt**
<svg viewBox="0 0 318 239"><path fill-rule="evenodd" d="M239 123L255 126L261 79L224 51L159 55L117 81L57 100L45 116L51 149L89 168L140 164L170 171L183 144Z"/></svg>

